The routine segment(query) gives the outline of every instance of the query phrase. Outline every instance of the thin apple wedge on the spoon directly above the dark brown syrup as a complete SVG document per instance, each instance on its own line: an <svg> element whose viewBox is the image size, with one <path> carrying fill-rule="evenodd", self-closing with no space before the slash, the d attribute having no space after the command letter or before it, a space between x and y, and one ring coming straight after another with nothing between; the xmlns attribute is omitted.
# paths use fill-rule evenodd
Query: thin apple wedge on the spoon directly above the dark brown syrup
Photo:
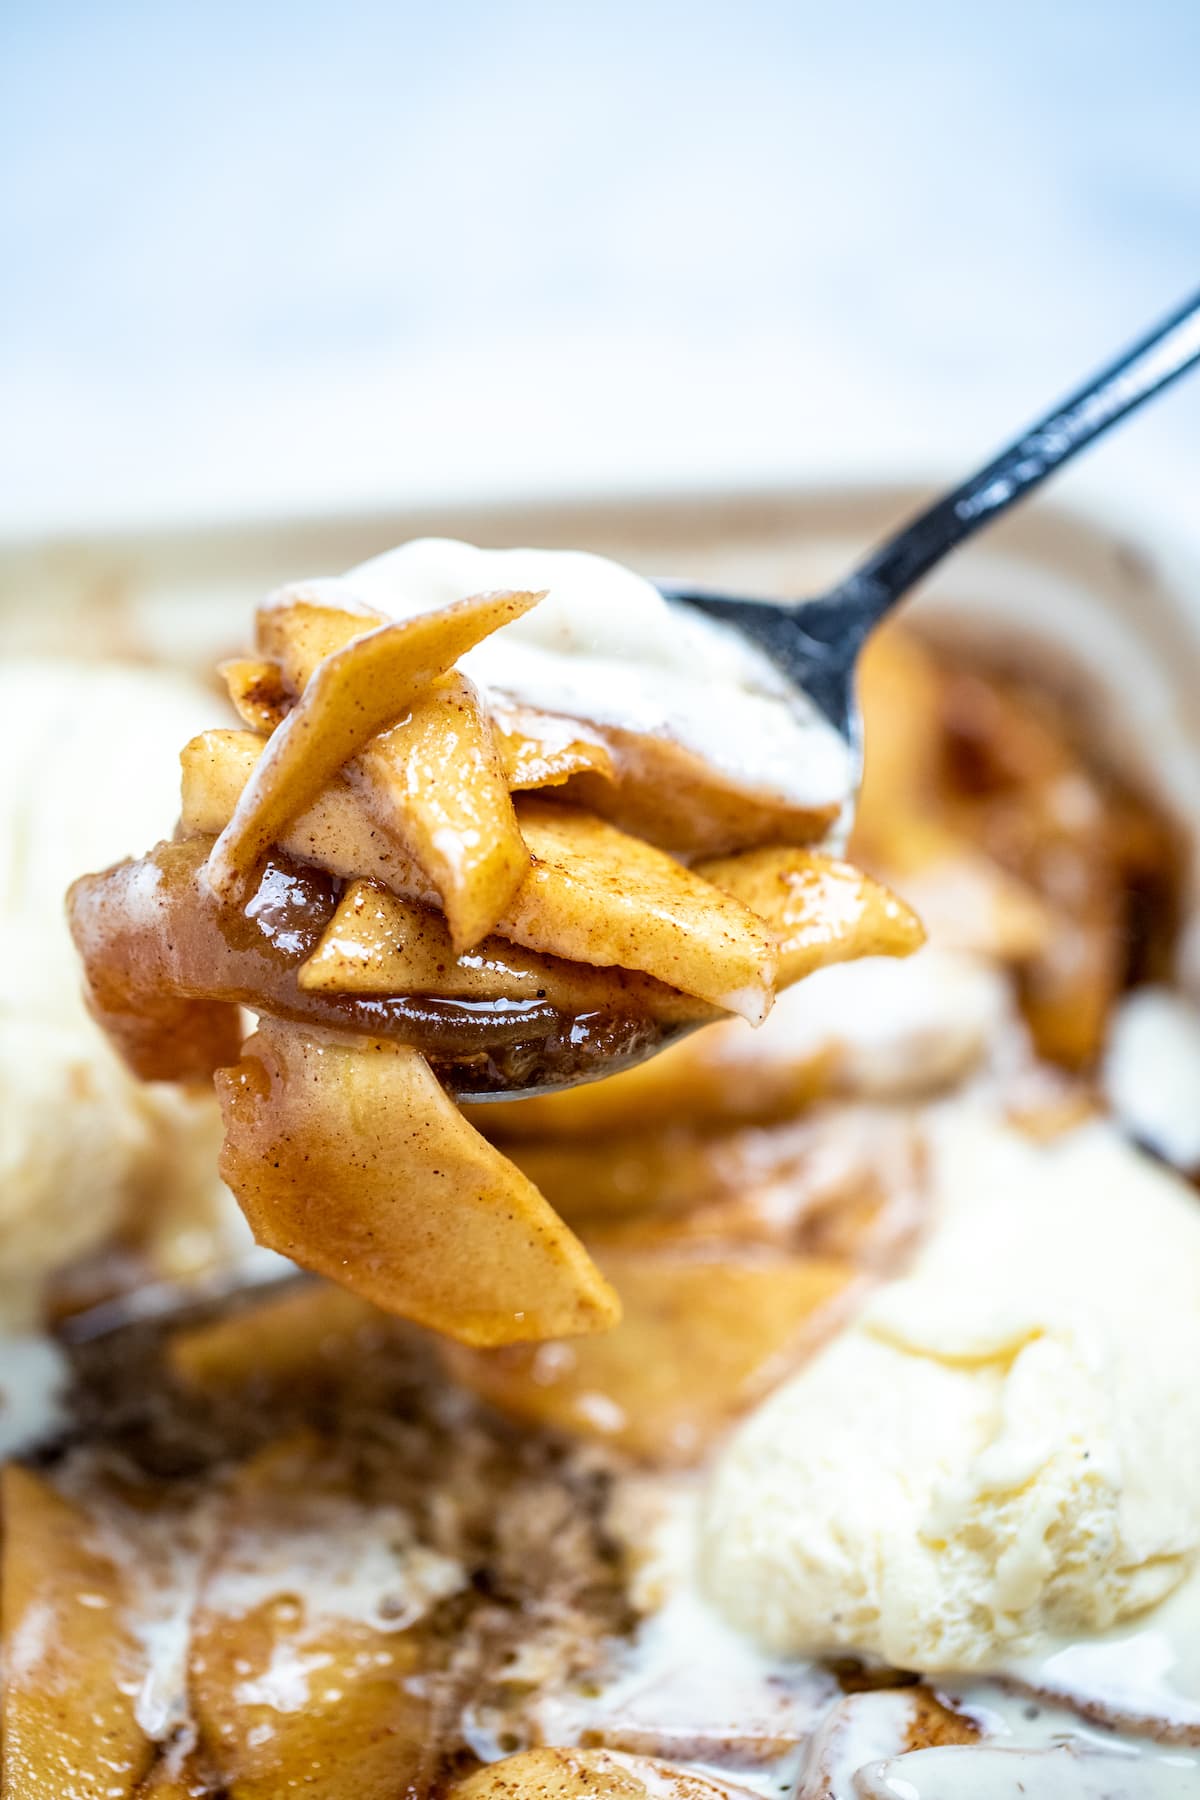
<svg viewBox="0 0 1200 1800"><path fill-rule="evenodd" d="M455 956L439 913L372 882L351 882L345 889L299 981L308 994L536 999L569 1013L633 1008L669 1024L720 1017L716 1008L651 976L538 956L506 938L486 938Z"/></svg>

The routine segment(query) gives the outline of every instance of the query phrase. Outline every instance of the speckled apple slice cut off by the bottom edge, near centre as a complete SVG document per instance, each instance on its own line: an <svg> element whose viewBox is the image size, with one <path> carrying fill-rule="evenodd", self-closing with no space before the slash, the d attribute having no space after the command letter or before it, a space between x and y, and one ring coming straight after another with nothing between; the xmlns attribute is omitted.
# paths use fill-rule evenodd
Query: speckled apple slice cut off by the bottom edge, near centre
<svg viewBox="0 0 1200 1800"><path fill-rule="evenodd" d="M750 1787L621 1750L522 1750L450 1789L452 1800L750 1800Z"/></svg>

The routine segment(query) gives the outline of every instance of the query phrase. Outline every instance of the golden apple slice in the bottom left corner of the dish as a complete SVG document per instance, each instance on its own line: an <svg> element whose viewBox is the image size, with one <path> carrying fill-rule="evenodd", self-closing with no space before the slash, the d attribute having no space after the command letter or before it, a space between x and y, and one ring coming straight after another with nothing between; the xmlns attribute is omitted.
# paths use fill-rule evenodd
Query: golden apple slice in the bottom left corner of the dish
<svg viewBox="0 0 1200 1800"><path fill-rule="evenodd" d="M153 1759L135 1715L146 1660L121 1570L49 1481L2 1476L4 1793L122 1800Z"/></svg>

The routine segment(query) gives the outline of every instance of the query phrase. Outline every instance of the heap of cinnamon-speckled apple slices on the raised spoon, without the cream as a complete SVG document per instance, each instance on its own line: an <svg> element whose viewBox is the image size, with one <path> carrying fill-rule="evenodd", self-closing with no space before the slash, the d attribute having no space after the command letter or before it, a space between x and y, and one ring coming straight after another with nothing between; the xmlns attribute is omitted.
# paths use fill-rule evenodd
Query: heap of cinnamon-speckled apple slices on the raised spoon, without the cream
<svg viewBox="0 0 1200 1800"><path fill-rule="evenodd" d="M223 671L246 729L184 751L176 841L70 893L131 1067L216 1076L221 1172L257 1238L471 1345L601 1330L619 1303L453 1091L757 1024L813 968L921 941L885 887L806 848L824 814L725 783L705 830L696 796L721 783L678 747L482 697L457 661L540 598L392 623L284 590ZM675 853L630 817L673 821Z"/></svg>

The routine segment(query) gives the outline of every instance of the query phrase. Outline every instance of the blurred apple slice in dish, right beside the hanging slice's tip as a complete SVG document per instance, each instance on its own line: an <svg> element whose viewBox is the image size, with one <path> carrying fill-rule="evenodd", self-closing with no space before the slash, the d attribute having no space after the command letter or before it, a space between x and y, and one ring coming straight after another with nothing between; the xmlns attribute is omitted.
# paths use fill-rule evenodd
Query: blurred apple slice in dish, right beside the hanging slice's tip
<svg viewBox="0 0 1200 1800"><path fill-rule="evenodd" d="M846 1314L849 1264L768 1249L601 1253L621 1325L578 1343L444 1346L450 1366L515 1418L691 1462Z"/></svg>

